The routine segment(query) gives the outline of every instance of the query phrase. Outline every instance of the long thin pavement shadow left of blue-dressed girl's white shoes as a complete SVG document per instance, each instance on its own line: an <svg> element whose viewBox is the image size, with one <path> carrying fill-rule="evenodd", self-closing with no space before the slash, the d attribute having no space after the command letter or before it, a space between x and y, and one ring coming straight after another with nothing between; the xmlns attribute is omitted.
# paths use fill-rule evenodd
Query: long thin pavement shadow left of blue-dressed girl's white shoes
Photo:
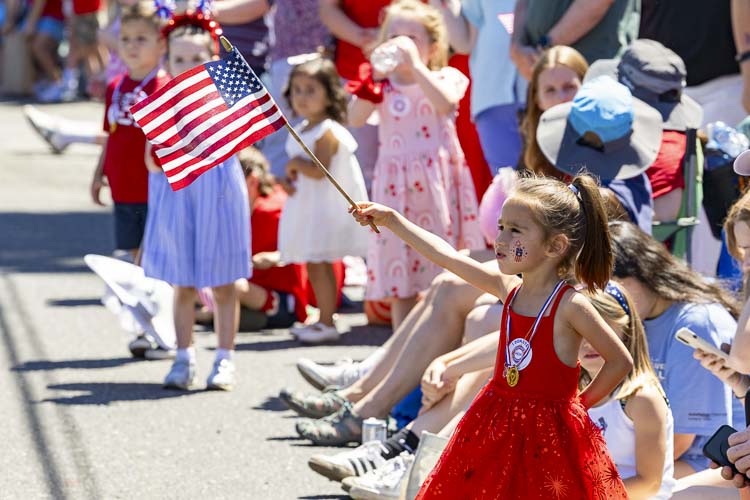
<svg viewBox="0 0 750 500"><path fill-rule="evenodd" d="M161 384L133 382L82 382L74 384L54 384L48 389L58 391L75 391L84 394L74 396L46 398L41 403L60 405L108 405L116 401L149 401L157 399L180 398L191 394L203 394L204 390L175 391L164 389Z"/></svg>

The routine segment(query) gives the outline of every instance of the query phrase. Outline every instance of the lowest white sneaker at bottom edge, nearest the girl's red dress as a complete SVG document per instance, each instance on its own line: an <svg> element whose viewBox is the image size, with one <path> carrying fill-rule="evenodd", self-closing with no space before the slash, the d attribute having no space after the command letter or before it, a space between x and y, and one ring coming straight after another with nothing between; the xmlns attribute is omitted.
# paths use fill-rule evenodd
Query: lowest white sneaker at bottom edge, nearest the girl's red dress
<svg viewBox="0 0 750 500"><path fill-rule="evenodd" d="M395 500L408 477L414 455L406 452L386 461L382 466L362 477L347 481L349 496L355 500Z"/></svg>

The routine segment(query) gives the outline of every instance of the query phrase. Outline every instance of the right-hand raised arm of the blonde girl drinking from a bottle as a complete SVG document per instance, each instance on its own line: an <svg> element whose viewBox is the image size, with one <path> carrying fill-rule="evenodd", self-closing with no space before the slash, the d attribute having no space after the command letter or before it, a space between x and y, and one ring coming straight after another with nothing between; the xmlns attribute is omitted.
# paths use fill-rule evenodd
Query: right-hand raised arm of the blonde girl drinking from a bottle
<svg viewBox="0 0 750 500"><path fill-rule="evenodd" d="M435 107L435 111L442 115L453 113L458 102L463 97L463 93L457 92L455 88L452 88L453 85L451 85L449 79L441 80L433 71L425 66L419 57L417 46L411 38L399 36L390 40L389 43L392 43L399 49L398 53L402 62L397 68L406 66L411 70L417 84L419 84L427 99Z"/></svg>

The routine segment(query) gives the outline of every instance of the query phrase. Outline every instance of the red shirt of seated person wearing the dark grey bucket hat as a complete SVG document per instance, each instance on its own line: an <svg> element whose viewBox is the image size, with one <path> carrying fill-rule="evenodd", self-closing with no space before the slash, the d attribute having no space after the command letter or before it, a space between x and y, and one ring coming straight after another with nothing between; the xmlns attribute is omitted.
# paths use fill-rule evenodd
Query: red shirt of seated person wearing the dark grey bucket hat
<svg viewBox="0 0 750 500"><path fill-rule="evenodd" d="M646 170L646 176L651 181L654 199L675 189L685 189L682 160L685 158L686 150L687 136L684 132L664 131L656 160Z"/></svg>

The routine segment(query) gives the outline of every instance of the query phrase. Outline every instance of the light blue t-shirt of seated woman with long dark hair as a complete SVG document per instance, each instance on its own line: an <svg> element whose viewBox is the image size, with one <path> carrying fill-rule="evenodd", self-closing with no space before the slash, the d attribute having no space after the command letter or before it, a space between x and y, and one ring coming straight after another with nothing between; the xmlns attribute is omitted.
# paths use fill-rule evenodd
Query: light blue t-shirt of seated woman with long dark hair
<svg viewBox="0 0 750 500"><path fill-rule="evenodd" d="M731 343L737 322L720 304L675 303L659 317L643 322L654 370L667 393L674 415L675 434L695 434L681 460L696 471L708 467L703 445L720 426L732 424L729 386L693 358L693 349L674 338L689 328L715 346Z"/></svg>

